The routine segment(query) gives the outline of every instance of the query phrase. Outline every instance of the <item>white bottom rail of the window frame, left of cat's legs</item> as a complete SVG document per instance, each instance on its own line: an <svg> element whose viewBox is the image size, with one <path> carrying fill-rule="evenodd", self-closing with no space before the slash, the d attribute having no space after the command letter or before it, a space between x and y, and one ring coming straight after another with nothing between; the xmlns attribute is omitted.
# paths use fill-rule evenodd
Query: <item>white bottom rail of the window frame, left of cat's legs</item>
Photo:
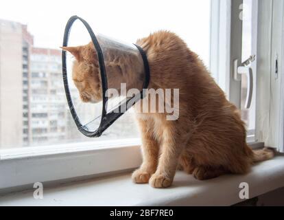
<svg viewBox="0 0 284 220"><path fill-rule="evenodd" d="M137 168L139 139L82 142L0 151L0 194L30 188L37 181L69 182ZM263 143L251 143L261 148Z"/></svg>

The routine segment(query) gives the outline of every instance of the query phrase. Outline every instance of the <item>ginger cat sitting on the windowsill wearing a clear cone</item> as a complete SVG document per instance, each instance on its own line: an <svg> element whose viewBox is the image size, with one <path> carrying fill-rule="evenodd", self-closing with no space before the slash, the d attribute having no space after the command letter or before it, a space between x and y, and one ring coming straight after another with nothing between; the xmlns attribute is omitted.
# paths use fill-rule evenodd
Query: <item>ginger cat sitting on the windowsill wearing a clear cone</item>
<svg viewBox="0 0 284 220"><path fill-rule="evenodd" d="M198 55L191 52L176 34L156 32L139 39L137 45L147 54L150 65L148 88L180 90L178 120L169 121L166 113L141 113L136 108L143 164L132 174L135 183L169 187L177 168L196 179L210 179L226 173L244 174L253 163L274 157L271 149L252 151L248 147L246 129L238 109L226 100ZM101 100L101 81L93 44L63 47L63 50L76 58L73 80L82 101ZM123 69L123 62L113 56L109 65L117 65L118 69L127 72L123 80L135 87L130 80L132 74L137 73ZM110 85L117 88L117 83L120 80L114 78Z"/></svg>

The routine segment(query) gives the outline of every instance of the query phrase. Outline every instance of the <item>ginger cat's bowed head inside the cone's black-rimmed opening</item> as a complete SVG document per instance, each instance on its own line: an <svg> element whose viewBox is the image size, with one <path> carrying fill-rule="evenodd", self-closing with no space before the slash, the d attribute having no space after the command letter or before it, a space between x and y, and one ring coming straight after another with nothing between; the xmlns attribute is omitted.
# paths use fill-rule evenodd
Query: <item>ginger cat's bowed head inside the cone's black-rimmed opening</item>
<svg viewBox="0 0 284 220"><path fill-rule="evenodd" d="M72 79L83 102L102 100L102 80L93 43L78 47L62 47L75 57Z"/></svg>

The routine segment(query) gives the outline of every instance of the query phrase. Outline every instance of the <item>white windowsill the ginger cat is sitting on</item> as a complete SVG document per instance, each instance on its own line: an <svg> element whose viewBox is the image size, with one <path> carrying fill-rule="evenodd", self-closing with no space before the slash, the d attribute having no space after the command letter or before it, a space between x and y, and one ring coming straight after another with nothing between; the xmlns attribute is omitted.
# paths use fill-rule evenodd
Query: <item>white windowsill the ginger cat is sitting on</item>
<svg viewBox="0 0 284 220"><path fill-rule="evenodd" d="M284 156L252 167L247 175L224 175L198 181L178 172L171 188L155 189L137 185L131 174L78 181L44 188L44 198L33 191L0 196L0 206L230 206L241 201L239 184L247 182L250 198L284 186Z"/></svg>

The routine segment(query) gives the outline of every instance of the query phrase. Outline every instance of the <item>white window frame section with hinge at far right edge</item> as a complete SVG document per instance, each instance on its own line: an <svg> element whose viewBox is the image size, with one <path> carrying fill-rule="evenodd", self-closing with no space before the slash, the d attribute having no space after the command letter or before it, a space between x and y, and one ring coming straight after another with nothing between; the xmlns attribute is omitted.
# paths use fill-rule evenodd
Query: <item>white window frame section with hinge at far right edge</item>
<svg viewBox="0 0 284 220"><path fill-rule="evenodd" d="M256 140L284 153L284 3L259 1L257 33ZM268 43L270 42L270 43ZM275 77L276 54L279 74Z"/></svg>

